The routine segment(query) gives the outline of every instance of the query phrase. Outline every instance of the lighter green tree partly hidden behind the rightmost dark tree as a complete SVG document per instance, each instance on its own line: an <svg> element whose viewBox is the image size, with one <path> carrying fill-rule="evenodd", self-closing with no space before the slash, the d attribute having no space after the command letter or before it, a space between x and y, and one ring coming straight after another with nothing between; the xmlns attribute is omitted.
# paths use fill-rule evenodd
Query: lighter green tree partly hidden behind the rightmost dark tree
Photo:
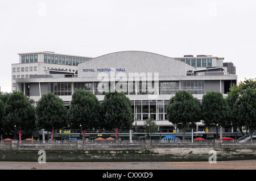
<svg viewBox="0 0 256 181"><path fill-rule="evenodd" d="M233 127L238 127L243 134L242 127L245 125L242 120L238 120L236 116L236 112L234 111L234 105L238 98L243 95L243 92L247 88L256 90L256 78L254 79L245 79L245 81L240 81L238 85L232 86L230 91L228 92L228 96L226 98L231 110L232 110L232 125Z"/></svg>

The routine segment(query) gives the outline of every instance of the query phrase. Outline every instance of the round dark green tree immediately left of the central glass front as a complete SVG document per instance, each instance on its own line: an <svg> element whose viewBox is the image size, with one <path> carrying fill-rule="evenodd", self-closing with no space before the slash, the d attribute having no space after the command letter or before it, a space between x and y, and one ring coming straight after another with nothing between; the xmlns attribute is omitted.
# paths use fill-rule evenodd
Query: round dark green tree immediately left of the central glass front
<svg viewBox="0 0 256 181"><path fill-rule="evenodd" d="M130 99L123 92L107 92L101 103L102 125L106 129L115 129L117 139L118 129L131 129L134 114Z"/></svg>

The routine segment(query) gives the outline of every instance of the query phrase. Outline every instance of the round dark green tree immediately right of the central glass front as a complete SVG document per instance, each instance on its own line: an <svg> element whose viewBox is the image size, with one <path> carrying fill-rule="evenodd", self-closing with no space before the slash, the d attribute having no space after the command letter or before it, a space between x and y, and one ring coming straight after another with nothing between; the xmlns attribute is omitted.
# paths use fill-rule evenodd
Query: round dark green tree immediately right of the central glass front
<svg viewBox="0 0 256 181"><path fill-rule="evenodd" d="M183 127L183 141L185 141L185 128L193 126L201 119L200 101L185 90L177 91L167 105L168 121Z"/></svg>

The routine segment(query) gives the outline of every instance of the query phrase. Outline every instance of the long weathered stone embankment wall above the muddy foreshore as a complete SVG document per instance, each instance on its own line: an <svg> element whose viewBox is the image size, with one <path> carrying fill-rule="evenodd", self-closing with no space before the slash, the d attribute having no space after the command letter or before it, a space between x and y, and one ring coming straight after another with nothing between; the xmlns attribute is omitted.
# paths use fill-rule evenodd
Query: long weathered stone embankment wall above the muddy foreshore
<svg viewBox="0 0 256 181"><path fill-rule="evenodd" d="M48 162L111 161L208 161L215 151L217 161L256 159L256 143L22 143L0 144L0 161L38 161L39 150Z"/></svg>

